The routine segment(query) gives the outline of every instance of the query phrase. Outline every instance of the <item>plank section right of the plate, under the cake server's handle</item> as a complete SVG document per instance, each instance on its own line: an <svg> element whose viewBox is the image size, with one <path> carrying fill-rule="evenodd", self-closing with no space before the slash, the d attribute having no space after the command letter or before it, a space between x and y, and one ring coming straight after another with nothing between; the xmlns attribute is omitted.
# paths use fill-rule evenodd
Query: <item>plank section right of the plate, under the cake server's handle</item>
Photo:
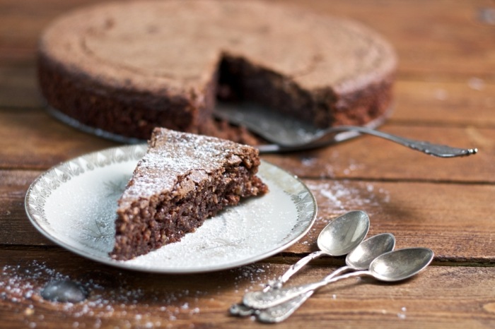
<svg viewBox="0 0 495 329"><path fill-rule="evenodd" d="M299 177L493 182L494 129L386 124L381 130L431 143L478 148L479 154L443 159L374 136L361 136L329 148L284 156L266 155L264 159Z"/></svg>

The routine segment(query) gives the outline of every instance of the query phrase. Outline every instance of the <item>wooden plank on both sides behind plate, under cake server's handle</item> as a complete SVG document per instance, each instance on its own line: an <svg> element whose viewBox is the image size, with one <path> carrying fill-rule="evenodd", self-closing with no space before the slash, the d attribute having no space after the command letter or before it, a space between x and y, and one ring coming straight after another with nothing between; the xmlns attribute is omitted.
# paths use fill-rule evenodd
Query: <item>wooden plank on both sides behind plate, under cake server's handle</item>
<svg viewBox="0 0 495 329"><path fill-rule="evenodd" d="M97 138L62 124L38 109L0 110L0 168L47 169L85 152L118 143ZM373 136L362 136L330 148L263 158L301 177L421 179L483 181L493 170L495 130L475 126L402 126L387 124L383 131L461 148L479 154L461 159L429 157ZM18 148L13 140L23 143ZM416 163L421 162L421 166ZM302 164L302 165L301 165Z"/></svg>

